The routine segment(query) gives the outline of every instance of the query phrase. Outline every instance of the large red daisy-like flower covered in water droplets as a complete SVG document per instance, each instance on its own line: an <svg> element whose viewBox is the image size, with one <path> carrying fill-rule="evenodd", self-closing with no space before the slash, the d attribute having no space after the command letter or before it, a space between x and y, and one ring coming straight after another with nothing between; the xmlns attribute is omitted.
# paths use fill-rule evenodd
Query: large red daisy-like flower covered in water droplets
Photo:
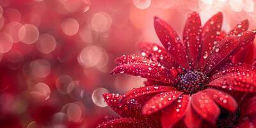
<svg viewBox="0 0 256 128"><path fill-rule="evenodd" d="M222 19L217 13L202 27L198 13L189 14L181 40L171 26L155 17L154 27L165 49L141 42L142 56L116 59L118 66L111 74L130 74L148 81L124 95L104 95L124 119L100 127L210 127L216 125L222 111L235 112L236 99L227 92L256 92L255 68L238 63L252 63L256 31L246 31L248 20L244 20L223 36Z"/></svg>

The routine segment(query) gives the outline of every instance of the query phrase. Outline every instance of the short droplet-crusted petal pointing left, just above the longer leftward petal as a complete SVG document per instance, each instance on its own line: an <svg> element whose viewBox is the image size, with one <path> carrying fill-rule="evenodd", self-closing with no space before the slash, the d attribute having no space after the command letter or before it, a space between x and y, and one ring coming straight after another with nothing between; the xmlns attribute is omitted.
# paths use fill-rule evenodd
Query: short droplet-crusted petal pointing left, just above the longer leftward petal
<svg viewBox="0 0 256 128"><path fill-rule="evenodd" d="M157 65L157 62L136 55L124 55L115 60L118 65L131 64L131 63L148 63L150 65Z"/></svg>

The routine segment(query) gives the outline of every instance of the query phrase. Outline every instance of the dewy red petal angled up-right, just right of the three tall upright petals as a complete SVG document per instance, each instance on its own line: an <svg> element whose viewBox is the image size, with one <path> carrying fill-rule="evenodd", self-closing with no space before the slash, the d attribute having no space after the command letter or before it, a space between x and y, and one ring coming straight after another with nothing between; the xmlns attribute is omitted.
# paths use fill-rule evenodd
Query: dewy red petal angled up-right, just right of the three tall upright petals
<svg viewBox="0 0 256 128"><path fill-rule="evenodd" d="M218 66L221 61L225 60L225 58L227 58L227 56L236 49L238 44L239 41L236 36L227 36L221 40L221 42L214 45L211 54L207 58L205 72L211 72L211 70Z"/></svg>

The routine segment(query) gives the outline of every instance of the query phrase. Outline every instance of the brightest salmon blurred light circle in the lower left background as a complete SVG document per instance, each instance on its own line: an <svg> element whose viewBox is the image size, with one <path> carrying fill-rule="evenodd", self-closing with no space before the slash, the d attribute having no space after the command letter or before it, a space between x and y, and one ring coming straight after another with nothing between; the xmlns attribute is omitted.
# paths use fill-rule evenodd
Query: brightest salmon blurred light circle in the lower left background
<svg viewBox="0 0 256 128"><path fill-rule="evenodd" d="M30 92L32 96L42 97L44 100L50 98L51 90L45 83L37 83L33 86L33 90Z"/></svg>

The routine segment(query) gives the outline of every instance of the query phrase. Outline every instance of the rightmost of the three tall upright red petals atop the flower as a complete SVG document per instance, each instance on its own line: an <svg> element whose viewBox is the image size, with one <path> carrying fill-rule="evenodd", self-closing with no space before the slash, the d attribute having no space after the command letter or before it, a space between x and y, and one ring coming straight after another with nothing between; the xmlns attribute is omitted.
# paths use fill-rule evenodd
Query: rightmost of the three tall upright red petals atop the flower
<svg viewBox="0 0 256 128"><path fill-rule="evenodd" d="M202 29L202 50L200 55L199 66L204 68L206 58L209 56L213 45L216 43L218 35L220 35L223 15L221 12L212 16Z"/></svg>

